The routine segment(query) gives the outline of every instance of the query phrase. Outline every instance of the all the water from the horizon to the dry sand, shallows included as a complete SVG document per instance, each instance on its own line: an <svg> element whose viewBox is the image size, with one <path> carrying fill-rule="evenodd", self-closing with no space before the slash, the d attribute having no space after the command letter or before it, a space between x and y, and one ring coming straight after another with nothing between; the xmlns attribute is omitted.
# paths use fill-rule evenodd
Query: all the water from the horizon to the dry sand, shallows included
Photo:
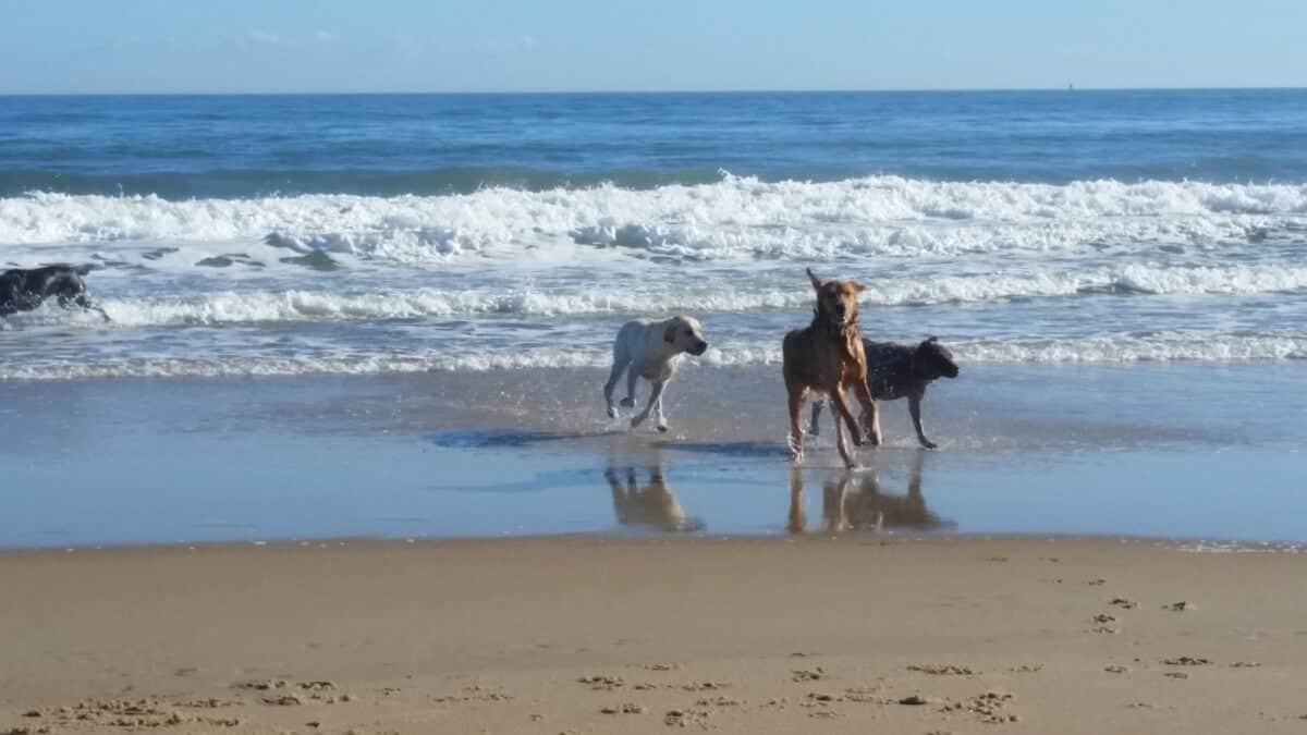
<svg viewBox="0 0 1307 735"><path fill-rule="evenodd" d="M1307 543L1307 90L4 97L0 267L47 263L112 320L0 319L0 547L779 534L842 483ZM938 451L895 403L789 470L809 267L953 349ZM613 335L674 313L711 347L627 432Z"/></svg>

